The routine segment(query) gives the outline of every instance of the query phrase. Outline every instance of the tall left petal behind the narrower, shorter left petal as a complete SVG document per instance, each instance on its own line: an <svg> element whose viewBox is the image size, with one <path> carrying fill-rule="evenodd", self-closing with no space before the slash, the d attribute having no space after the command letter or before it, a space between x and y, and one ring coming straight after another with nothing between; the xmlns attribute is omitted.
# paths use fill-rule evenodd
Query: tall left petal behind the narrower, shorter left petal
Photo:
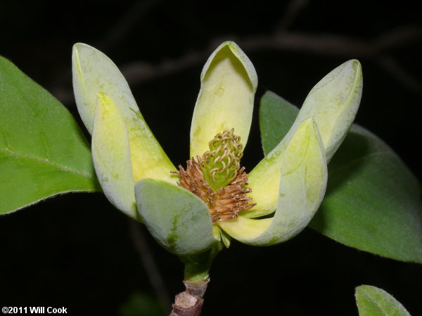
<svg viewBox="0 0 422 316"><path fill-rule="evenodd" d="M134 181L158 178L175 183L170 171L176 169L155 140L113 61L96 48L78 43L73 46L72 74L77 108L90 133L97 94L105 93L115 103L129 137Z"/></svg>

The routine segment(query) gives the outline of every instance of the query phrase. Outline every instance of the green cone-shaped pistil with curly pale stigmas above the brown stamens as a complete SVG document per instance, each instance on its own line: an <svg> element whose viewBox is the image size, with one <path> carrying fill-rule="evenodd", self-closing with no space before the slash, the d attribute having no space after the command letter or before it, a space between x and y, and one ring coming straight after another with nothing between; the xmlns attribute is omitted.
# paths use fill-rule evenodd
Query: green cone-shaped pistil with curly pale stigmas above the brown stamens
<svg viewBox="0 0 422 316"><path fill-rule="evenodd" d="M210 141L210 151L200 158L200 169L212 190L225 187L236 178L243 156L240 141L240 136L234 135L234 129L226 129Z"/></svg>

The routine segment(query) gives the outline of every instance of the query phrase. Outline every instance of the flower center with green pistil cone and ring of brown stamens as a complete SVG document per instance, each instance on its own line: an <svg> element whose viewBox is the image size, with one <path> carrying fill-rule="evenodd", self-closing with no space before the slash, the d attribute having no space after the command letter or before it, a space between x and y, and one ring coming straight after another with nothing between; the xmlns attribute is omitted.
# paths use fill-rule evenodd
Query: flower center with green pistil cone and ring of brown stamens
<svg viewBox="0 0 422 316"><path fill-rule="evenodd" d="M250 203L251 192L248 185L248 173L241 168L243 145L241 138L234 135L234 129L218 133L210 141L210 150L202 157L197 156L186 162L186 171L179 166L179 186L191 191L207 204L212 222L230 220L238 217L239 211L255 206Z"/></svg>

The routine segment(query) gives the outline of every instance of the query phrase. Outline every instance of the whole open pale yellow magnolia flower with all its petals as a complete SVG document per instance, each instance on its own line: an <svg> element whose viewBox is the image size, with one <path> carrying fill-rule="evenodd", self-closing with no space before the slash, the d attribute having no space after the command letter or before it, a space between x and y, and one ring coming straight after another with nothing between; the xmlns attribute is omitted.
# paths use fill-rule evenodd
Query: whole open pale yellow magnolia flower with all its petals
<svg viewBox="0 0 422 316"><path fill-rule="evenodd" d="M321 204L327 162L350 128L362 94L359 62L337 67L310 91L286 137L248 175L240 160L257 74L233 42L221 44L203 68L191 124L191 159L179 169L155 140L127 82L106 55L75 44L72 73L103 192L179 256L220 241L229 246L227 235L265 246L303 230Z"/></svg>

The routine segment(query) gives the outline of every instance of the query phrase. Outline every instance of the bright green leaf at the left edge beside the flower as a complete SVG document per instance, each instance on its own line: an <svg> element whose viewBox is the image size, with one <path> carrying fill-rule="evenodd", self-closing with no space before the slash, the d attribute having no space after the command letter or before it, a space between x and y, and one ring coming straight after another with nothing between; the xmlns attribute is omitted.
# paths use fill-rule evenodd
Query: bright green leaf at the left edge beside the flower
<svg viewBox="0 0 422 316"><path fill-rule="evenodd" d="M0 214L59 193L100 190L72 115L0 57Z"/></svg>

